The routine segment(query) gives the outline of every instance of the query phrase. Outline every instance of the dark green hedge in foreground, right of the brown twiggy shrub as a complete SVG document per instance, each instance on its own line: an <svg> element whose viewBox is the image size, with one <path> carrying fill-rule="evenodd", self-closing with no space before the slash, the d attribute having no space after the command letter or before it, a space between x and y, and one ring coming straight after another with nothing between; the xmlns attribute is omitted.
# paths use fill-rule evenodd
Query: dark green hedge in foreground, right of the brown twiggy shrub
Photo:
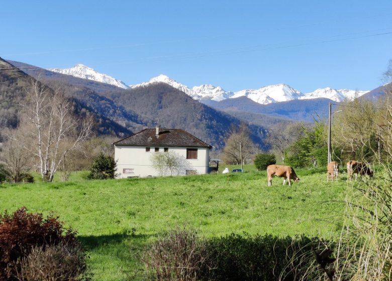
<svg viewBox="0 0 392 281"><path fill-rule="evenodd" d="M207 241L200 280L316 280L312 243L319 238L231 234Z"/></svg>

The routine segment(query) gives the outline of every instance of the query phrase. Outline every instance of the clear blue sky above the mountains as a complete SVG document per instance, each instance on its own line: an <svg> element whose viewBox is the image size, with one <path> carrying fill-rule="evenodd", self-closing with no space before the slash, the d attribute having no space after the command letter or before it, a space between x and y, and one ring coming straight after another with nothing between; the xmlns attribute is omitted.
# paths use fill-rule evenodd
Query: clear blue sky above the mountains
<svg viewBox="0 0 392 281"><path fill-rule="evenodd" d="M392 1L4 1L0 57L159 74L237 91L370 90L392 59Z"/></svg>

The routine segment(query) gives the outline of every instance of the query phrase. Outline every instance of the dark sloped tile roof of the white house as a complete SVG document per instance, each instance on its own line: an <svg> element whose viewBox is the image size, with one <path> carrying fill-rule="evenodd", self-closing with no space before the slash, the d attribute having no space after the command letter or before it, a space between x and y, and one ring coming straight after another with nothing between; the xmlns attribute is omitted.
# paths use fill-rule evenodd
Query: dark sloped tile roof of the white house
<svg viewBox="0 0 392 281"><path fill-rule="evenodd" d="M122 146L167 146L167 147L208 147L210 145L182 129L159 129L158 137L155 128L144 129L132 134L113 145Z"/></svg>

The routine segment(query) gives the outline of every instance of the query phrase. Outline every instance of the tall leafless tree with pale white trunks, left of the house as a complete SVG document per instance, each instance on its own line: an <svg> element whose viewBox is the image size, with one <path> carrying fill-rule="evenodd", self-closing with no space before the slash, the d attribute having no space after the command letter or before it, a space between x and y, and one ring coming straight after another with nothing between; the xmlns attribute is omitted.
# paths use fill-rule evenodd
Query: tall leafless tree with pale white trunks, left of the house
<svg viewBox="0 0 392 281"><path fill-rule="evenodd" d="M53 181L53 176L66 155L81 149L92 133L92 120L81 121L72 112L72 102L60 87L52 90L39 80L31 80L26 89L22 123L28 127L31 142L24 148L39 160L41 177Z"/></svg>

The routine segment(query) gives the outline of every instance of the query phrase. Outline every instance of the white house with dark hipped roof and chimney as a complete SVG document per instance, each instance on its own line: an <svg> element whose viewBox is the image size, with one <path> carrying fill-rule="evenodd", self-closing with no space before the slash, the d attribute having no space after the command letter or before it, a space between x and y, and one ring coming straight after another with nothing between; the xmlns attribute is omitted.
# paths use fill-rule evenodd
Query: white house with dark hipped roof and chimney
<svg viewBox="0 0 392 281"><path fill-rule="evenodd" d="M206 174L210 145L182 129L144 129L113 143L118 178L159 176L152 165L156 153L175 153L183 159L180 175Z"/></svg>

